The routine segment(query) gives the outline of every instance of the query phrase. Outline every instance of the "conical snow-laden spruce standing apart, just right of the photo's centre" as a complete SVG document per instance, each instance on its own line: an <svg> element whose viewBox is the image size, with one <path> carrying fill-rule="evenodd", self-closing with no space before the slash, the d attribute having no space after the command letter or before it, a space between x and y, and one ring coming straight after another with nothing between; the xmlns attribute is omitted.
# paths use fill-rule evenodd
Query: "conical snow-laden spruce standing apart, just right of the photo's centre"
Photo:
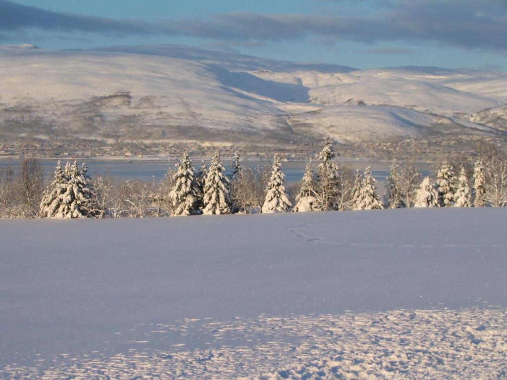
<svg viewBox="0 0 507 380"><path fill-rule="evenodd" d="M288 200L283 185L285 175L281 171L280 158L275 155L273 166L271 167L271 177L266 186L266 198L262 206L262 212L288 212L292 207L291 201Z"/></svg>

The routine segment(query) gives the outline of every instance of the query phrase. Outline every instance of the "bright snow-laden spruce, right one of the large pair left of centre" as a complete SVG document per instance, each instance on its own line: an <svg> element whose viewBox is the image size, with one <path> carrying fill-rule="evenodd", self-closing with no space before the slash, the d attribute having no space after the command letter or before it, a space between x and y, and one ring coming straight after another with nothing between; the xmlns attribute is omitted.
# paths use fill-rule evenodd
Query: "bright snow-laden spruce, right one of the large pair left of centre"
<svg viewBox="0 0 507 380"><path fill-rule="evenodd" d="M224 175L224 166L217 151L209 166L206 182L204 183L204 197L202 210L205 215L230 214L231 195L229 179Z"/></svg>

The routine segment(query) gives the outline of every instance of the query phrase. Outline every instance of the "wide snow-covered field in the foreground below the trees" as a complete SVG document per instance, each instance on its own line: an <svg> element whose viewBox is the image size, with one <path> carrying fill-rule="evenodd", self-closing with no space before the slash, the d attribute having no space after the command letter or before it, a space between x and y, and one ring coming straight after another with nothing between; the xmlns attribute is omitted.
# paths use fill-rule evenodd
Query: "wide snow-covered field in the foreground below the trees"
<svg viewBox="0 0 507 380"><path fill-rule="evenodd" d="M1 220L0 378L504 378L507 210Z"/></svg>

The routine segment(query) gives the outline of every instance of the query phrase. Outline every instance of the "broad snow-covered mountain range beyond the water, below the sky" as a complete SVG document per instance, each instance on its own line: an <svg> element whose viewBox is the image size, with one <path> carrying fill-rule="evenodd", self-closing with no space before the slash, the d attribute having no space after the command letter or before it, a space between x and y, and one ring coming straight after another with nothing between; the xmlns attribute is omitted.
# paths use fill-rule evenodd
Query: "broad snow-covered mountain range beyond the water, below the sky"
<svg viewBox="0 0 507 380"><path fill-rule="evenodd" d="M501 72L356 70L175 45L0 47L4 136L304 141L329 134L356 142L495 135L507 129L506 103Z"/></svg>

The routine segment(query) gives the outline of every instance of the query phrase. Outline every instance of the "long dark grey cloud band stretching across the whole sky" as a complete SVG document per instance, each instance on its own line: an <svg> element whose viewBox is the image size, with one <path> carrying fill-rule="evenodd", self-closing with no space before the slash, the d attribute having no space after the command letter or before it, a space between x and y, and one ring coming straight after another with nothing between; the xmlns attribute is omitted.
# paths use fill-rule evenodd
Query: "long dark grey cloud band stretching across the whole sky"
<svg viewBox="0 0 507 380"><path fill-rule="evenodd" d="M506 54L507 2L392 0L388 7L376 8L368 16L343 12L339 16L236 12L150 22L49 12L0 0L0 33L28 28L112 35L186 36L220 44L230 42L231 45L308 40L366 44L436 42Z"/></svg>

